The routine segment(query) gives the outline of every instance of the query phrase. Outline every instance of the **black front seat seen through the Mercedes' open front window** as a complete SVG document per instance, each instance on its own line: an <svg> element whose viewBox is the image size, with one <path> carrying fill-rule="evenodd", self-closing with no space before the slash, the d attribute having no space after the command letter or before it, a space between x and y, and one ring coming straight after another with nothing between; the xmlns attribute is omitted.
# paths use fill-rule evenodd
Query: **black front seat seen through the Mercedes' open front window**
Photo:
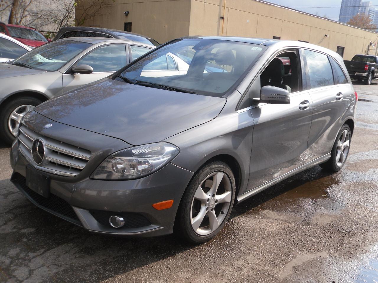
<svg viewBox="0 0 378 283"><path fill-rule="evenodd" d="M261 86L277 86L277 88L287 89L291 93L290 86L282 83L284 75L285 68L282 61L279 58L274 58L260 76Z"/></svg>

